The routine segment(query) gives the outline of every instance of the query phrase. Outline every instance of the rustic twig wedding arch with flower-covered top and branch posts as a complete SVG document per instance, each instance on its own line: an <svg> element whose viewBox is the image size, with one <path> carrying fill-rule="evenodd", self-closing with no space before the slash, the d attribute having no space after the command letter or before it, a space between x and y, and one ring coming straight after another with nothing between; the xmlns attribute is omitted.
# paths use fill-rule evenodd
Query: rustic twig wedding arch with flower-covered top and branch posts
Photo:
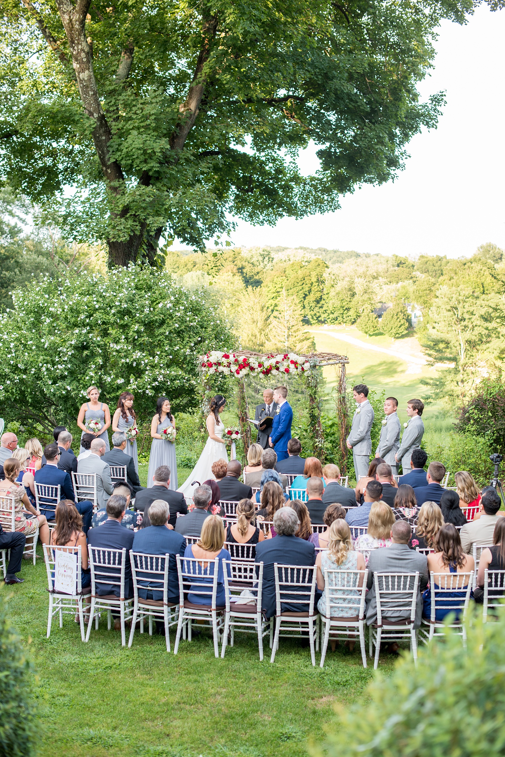
<svg viewBox="0 0 505 757"><path fill-rule="evenodd" d="M307 390L308 415L310 430L313 436L314 450L317 456L324 460L324 435L321 425L321 397L320 374L316 370L323 366L338 367L338 385L336 397L336 411L338 421L342 425L341 443L344 443L345 428L348 422L348 409L345 398L345 366L348 357L333 352L311 352L299 355L293 352L283 354L260 354L251 350L236 350L235 352L221 352L214 350L198 358L199 368L204 390L204 406L211 392L212 376L227 375L238 382L238 422L240 424L245 453L251 444L251 425L248 422L248 400L245 394L245 379L248 375L278 376L279 383L286 375L295 375ZM202 407L202 410L206 408ZM341 450L341 459L346 458L347 450Z"/></svg>

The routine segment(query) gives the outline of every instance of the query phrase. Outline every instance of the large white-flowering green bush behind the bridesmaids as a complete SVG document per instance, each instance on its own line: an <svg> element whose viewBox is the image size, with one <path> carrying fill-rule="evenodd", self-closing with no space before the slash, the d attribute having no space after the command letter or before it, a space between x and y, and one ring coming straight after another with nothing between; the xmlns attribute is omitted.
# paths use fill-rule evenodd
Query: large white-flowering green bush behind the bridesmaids
<svg viewBox="0 0 505 757"><path fill-rule="evenodd" d="M197 407L198 355L231 341L198 291L140 266L18 290L0 335L0 412L46 426L75 418L92 384L111 408L132 391L137 415L161 394L176 412Z"/></svg>

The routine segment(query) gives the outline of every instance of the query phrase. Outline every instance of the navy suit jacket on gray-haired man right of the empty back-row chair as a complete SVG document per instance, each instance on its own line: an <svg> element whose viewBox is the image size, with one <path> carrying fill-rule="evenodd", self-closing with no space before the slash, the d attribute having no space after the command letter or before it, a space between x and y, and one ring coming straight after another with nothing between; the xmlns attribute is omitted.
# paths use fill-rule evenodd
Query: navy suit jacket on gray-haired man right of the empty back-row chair
<svg viewBox="0 0 505 757"><path fill-rule="evenodd" d="M267 618L276 614L276 578L273 565L314 565L316 562L316 550L310 541L299 539L298 536L276 536L273 539L265 539L256 545L256 558L254 562L263 562L263 595L261 608ZM256 569L258 572L258 569ZM299 590L299 589L298 589ZM319 593L319 596L320 593ZM318 596L316 590L317 603ZM282 603L281 610L294 610L295 612L307 612L309 606L289 605Z"/></svg>

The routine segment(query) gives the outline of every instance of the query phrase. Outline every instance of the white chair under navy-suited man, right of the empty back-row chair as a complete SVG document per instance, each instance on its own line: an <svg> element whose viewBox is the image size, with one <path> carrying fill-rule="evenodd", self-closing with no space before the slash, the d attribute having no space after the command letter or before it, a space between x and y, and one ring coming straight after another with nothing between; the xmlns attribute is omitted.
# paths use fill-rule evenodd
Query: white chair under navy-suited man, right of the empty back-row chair
<svg viewBox="0 0 505 757"><path fill-rule="evenodd" d="M276 659L276 651L279 647L279 636L301 636L302 628L306 627L309 632L310 658L316 665L314 654L314 642L316 650L319 650L319 612L314 609L316 597L316 565L273 565L276 580L276 630L273 637L272 656L270 662ZM282 605L295 607L309 606L308 610L282 610ZM314 628L316 624L316 628ZM281 630L282 634L281 634ZM296 631L297 633L293 633ZM291 633L290 633L291 632Z"/></svg>

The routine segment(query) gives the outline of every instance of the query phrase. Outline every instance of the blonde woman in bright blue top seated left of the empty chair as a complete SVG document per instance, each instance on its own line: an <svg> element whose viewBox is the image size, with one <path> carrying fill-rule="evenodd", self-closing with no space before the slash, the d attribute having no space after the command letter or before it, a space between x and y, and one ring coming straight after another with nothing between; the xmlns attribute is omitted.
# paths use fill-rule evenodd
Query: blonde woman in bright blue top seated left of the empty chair
<svg viewBox="0 0 505 757"><path fill-rule="evenodd" d="M185 516L185 518L189 518ZM179 519L180 520L180 519ZM208 587L196 586L195 592L191 590L188 594L189 602L197 605L210 605L212 603L212 584L214 583L214 565L210 561L219 558L217 569L217 595L216 606L224 607L226 604L226 598L224 593L224 578L223 578L223 560L231 562L232 556L228 550L223 549L224 537L226 531L223 524L223 519L220 516L209 516L201 527L200 540L196 544L188 544L184 550L185 557L195 557L202 562L196 563L196 570L198 571L198 583L208 584ZM206 561L206 562L203 562ZM202 565L207 568L210 562L210 575L202 575ZM226 562L226 573L231 578L231 569L229 562ZM185 570L191 570L189 566ZM193 568L195 570L195 567Z"/></svg>

